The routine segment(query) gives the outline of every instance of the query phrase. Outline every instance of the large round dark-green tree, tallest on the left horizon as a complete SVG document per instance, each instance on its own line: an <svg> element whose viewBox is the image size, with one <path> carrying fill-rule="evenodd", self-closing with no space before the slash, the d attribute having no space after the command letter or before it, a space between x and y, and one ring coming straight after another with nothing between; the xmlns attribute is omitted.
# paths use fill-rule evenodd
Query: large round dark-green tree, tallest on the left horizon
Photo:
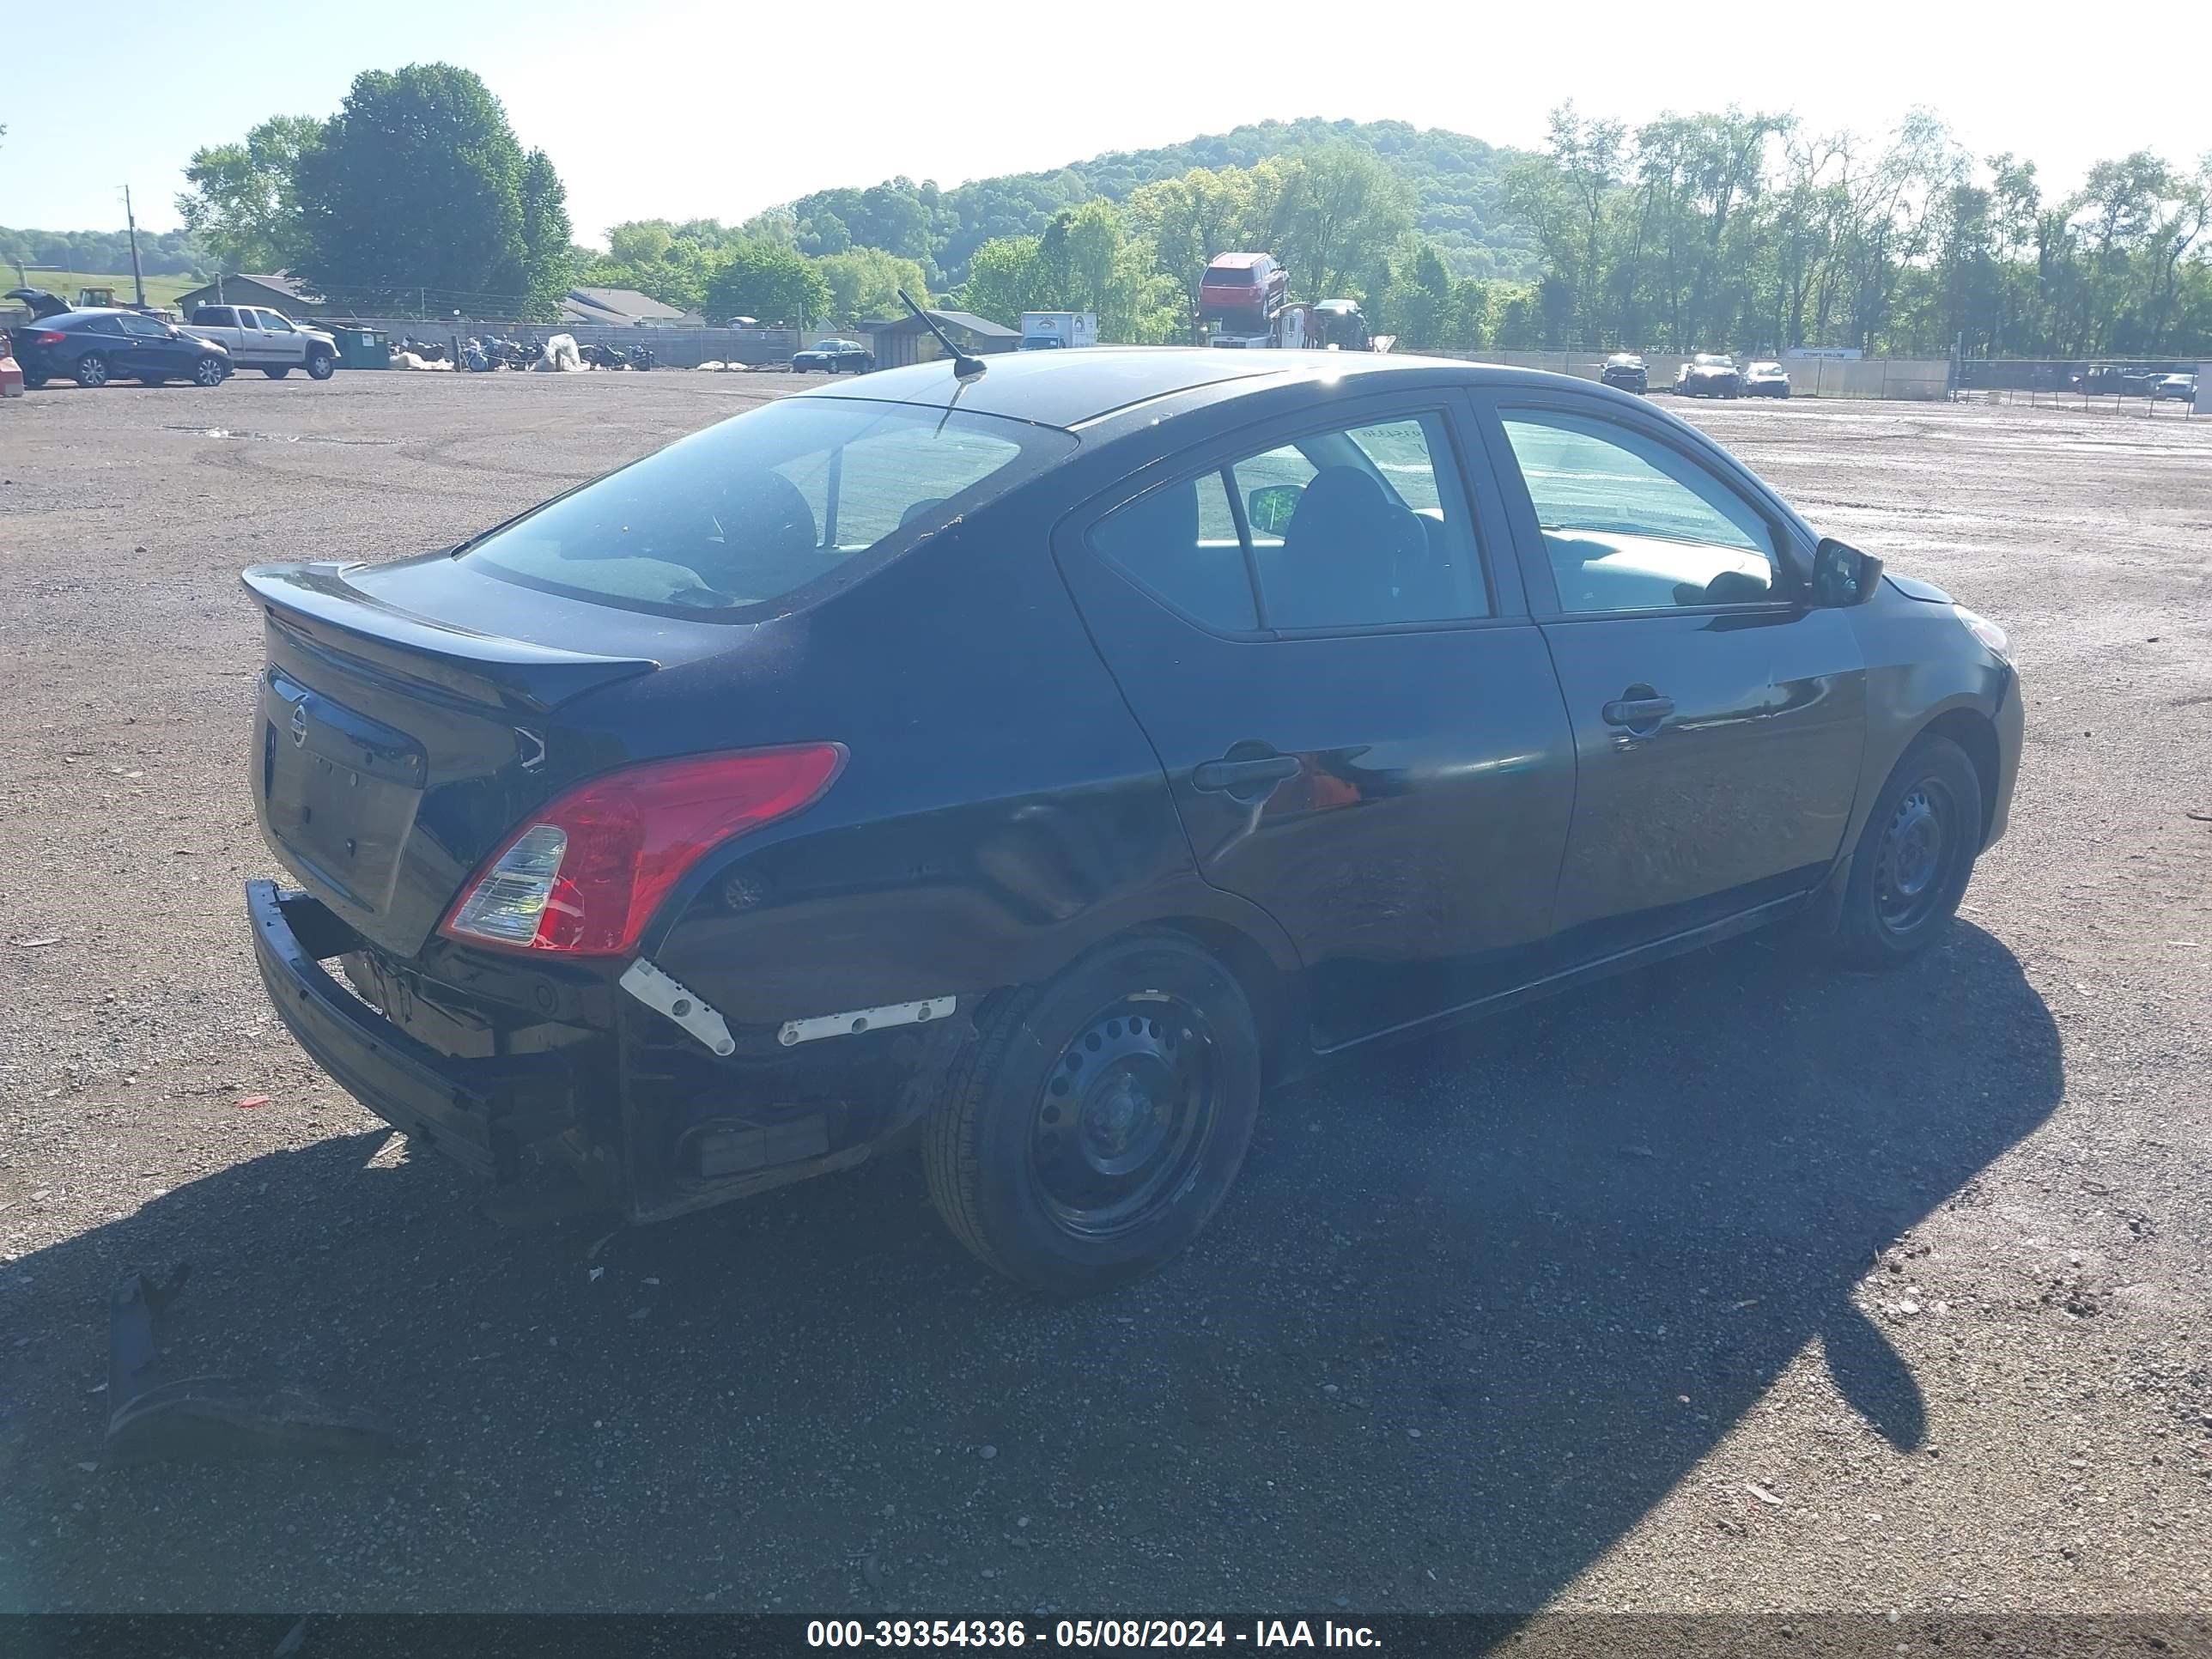
<svg viewBox="0 0 2212 1659"><path fill-rule="evenodd" d="M540 234L529 241L529 159L484 82L451 64L367 71L301 155L301 270L334 299L500 312L542 290L566 212L538 184ZM546 265L535 268L533 261Z"/></svg>

